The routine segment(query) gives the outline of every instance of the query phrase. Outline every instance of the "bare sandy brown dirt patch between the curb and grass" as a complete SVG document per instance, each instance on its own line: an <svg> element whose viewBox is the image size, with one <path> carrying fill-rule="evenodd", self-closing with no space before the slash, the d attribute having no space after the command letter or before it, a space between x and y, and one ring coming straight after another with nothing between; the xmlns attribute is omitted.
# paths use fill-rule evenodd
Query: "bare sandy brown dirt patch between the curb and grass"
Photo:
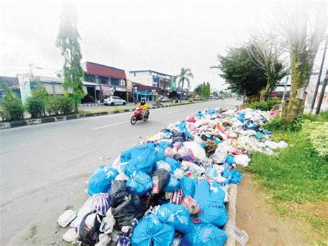
<svg viewBox="0 0 328 246"><path fill-rule="evenodd" d="M237 227L244 229L248 245L313 245L325 242L302 218L280 216L268 203L254 175L246 173L238 186Z"/></svg>

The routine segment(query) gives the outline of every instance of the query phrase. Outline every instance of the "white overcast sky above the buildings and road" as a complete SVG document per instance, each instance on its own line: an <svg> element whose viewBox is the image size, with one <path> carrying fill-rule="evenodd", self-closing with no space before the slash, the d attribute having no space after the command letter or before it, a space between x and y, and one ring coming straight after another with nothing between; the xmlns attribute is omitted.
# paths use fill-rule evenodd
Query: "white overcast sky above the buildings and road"
<svg viewBox="0 0 328 246"><path fill-rule="evenodd" d="M263 26L266 1L73 1L82 61L175 75L181 67L219 88L217 54ZM62 69L55 46L62 1L1 1L1 76ZM51 70L53 69L53 70Z"/></svg>

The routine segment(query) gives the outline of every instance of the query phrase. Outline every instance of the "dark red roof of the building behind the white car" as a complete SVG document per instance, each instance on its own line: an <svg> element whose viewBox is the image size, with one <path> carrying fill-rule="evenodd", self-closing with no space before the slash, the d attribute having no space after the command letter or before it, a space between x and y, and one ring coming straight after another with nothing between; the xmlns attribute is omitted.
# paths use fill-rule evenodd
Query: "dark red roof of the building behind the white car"
<svg viewBox="0 0 328 246"><path fill-rule="evenodd" d="M112 78L124 78L125 80L127 79L127 77L125 76L125 71L122 69L116 69L116 67L108 67L93 62L86 62L85 67L86 73L93 73L100 76L108 76Z"/></svg>

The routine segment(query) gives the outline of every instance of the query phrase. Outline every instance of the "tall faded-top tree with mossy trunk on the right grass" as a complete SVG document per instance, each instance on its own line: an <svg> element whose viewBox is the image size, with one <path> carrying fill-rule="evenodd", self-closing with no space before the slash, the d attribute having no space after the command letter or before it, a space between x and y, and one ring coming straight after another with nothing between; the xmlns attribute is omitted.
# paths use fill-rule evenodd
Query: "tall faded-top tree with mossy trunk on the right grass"
<svg viewBox="0 0 328 246"><path fill-rule="evenodd" d="M272 28L277 41L289 51L291 94L282 116L290 122L304 111L304 88L309 84L314 58L327 29L327 4L325 1L279 4L279 10L273 12Z"/></svg>

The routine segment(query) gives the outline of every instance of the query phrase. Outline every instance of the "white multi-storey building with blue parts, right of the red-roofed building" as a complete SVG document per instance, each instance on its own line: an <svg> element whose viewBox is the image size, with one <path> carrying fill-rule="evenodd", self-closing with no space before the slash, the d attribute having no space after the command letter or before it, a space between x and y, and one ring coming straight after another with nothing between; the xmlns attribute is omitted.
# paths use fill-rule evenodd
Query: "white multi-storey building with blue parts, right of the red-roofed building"
<svg viewBox="0 0 328 246"><path fill-rule="evenodd" d="M129 71L128 77L133 86L138 86L138 94L134 92L134 95L145 94L148 98L154 100L154 96L150 96L149 91L153 91L155 95L168 96L171 90L172 76L169 74L152 70L134 70ZM143 90L140 90L140 88L143 88Z"/></svg>

